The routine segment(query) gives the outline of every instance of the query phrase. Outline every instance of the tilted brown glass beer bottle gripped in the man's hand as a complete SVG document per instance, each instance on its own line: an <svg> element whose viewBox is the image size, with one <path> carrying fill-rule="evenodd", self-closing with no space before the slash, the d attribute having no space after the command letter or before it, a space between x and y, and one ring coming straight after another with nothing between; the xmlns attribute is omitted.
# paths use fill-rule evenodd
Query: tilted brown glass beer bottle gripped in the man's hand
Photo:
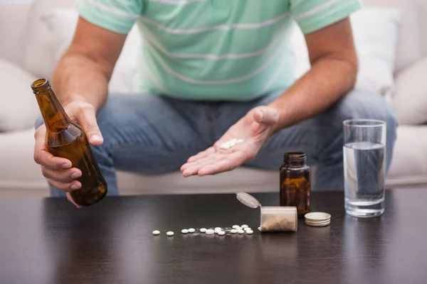
<svg viewBox="0 0 427 284"><path fill-rule="evenodd" d="M57 157L67 158L73 168L82 172L77 179L82 187L70 192L74 202L80 206L100 202L107 195L107 183L100 173L85 133L78 124L68 118L48 80L42 78L34 81L31 89L36 94L38 107L46 125L48 151Z"/></svg>

